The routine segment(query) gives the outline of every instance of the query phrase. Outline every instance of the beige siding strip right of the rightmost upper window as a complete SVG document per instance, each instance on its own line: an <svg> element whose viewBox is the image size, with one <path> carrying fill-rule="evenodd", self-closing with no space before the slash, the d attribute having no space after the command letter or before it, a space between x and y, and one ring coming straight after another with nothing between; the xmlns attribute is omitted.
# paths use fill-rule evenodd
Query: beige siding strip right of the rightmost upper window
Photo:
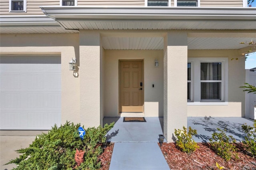
<svg viewBox="0 0 256 170"><path fill-rule="evenodd" d="M242 0L200 0L203 7L243 7Z"/></svg>

